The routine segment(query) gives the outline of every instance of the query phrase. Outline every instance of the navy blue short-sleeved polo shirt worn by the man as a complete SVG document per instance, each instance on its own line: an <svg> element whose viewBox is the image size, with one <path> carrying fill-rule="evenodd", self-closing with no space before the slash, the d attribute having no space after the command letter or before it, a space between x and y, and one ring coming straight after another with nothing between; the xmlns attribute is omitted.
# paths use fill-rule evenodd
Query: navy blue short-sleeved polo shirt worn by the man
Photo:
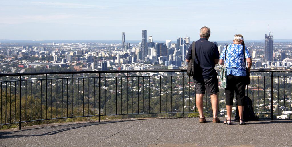
<svg viewBox="0 0 292 147"><path fill-rule="evenodd" d="M186 59L192 59L192 44L187 52ZM219 59L219 51L215 43L208 41L207 38L201 38L195 44L196 54L200 61L200 66L203 70L203 78L210 79L218 74L215 70L215 59ZM196 61L196 60L195 60ZM197 61L196 61L197 62Z"/></svg>

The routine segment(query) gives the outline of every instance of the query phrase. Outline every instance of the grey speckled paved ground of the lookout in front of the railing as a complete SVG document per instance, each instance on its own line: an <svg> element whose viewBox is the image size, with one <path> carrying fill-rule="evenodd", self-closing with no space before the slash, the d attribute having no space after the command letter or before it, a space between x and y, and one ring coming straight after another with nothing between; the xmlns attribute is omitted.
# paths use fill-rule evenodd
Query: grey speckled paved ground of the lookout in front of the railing
<svg viewBox="0 0 292 147"><path fill-rule="evenodd" d="M292 146L292 120L246 125L211 121L162 118L37 125L0 130L0 146Z"/></svg>

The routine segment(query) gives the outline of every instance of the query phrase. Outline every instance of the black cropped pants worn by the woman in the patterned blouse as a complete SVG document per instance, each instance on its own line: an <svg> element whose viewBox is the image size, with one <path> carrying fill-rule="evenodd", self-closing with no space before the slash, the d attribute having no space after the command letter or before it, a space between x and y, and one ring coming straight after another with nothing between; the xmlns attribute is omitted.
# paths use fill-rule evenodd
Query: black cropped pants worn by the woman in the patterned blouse
<svg viewBox="0 0 292 147"><path fill-rule="evenodd" d="M238 106L244 106L243 97L245 95L244 76L228 75L226 79L227 85L225 88L226 105L233 106L234 91Z"/></svg>

